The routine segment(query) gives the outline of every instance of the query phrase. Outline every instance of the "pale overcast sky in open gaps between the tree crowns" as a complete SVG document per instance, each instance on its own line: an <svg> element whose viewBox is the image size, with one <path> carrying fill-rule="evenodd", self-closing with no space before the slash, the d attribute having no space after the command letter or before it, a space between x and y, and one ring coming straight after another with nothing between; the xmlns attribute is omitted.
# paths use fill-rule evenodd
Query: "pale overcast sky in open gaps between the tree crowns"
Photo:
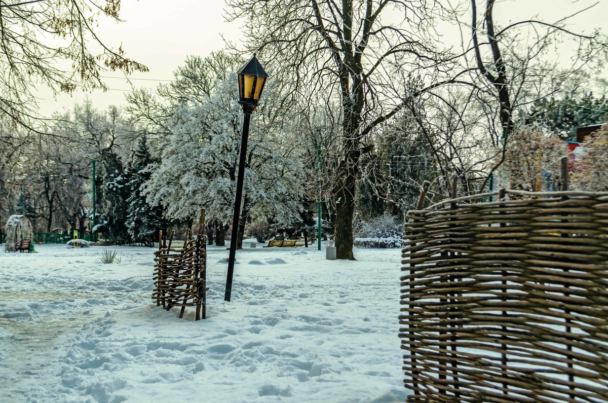
<svg viewBox="0 0 608 403"><path fill-rule="evenodd" d="M454 4L457 0L451 0ZM481 3L481 2L478 2ZM530 19L538 15L547 22L554 22L578 10L598 3L572 19L570 28L576 31L601 28L608 33L608 0L498 0L494 12L500 25L519 19ZM120 17L123 23L102 23L98 36L114 49L122 44L127 57L148 66L150 72L131 75L133 85L154 88L161 82L171 80L174 69L182 64L187 55L201 55L224 47L220 35L228 40L241 38L240 24L226 23L223 0L123 0ZM455 40L454 32L446 32L446 41ZM467 38L468 40L468 38ZM455 43L460 43L457 38ZM58 95L56 99L47 91L41 91L40 111L50 114L64 108L71 109L74 102L88 96L95 107L125 103L125 91L131 86L120 72L108 72L105 82L111 90L103 93L77 91L72 96ZM607 77L608 78L608 77ZM141 80L145 79L145 80ZM123 90L123 91L120 91Z"/></svg>

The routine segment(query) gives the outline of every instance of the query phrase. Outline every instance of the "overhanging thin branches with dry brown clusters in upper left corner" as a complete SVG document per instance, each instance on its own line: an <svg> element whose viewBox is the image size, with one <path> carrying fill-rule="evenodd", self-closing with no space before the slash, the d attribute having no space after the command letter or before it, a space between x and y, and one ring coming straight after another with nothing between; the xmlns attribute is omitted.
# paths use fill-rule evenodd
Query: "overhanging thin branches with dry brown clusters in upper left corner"
<svg viewBox="0 0 608 403"><path fill-rule="evenodd" d="M0 7L0 112L33 128L38 117L32 83L55 93L105 89L100 73L148 69L106 45L95 33L102 19L120 21L120 0L47 0Z"/></svg>

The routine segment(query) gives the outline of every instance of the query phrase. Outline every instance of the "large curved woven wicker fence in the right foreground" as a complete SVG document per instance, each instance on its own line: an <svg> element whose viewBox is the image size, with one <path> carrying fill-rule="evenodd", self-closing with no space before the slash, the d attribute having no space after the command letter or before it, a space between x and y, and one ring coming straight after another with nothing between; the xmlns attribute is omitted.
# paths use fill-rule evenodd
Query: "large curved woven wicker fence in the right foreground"
<svg viewBox="0 0 608 403"><path fill-rule="evenodd" d="M608 402L608 193L480 196L407 214L409 401Z"/></svg>

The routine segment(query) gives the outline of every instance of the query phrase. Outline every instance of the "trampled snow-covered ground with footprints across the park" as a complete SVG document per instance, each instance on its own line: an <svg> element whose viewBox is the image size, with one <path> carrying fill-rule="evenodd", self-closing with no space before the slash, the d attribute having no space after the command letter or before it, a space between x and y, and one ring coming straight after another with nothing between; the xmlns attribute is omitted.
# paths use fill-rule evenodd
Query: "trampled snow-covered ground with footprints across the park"
<svg viewBox="0 0 608 403"><path fill-rule="evenodd" d="M400 250L210 247L207 320L151 301L153 250L0 253L0 402L405 401Z"/></svg>

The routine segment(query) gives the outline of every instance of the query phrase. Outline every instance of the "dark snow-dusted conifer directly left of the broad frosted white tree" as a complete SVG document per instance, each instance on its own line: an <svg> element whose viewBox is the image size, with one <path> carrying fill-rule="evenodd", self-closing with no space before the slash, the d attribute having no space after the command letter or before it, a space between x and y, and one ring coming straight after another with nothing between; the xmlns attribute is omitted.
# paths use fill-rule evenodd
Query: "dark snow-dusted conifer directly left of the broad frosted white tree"
<svg viewBox="0 0 608 403"><path fill-rule="evenodd" d="M139 141L129 167L130 178L127 186L131 195L127 199L126 228L132 242L154 245L154 235L166 228L161 206L151 207L142 195L142 185L150 180L148 168L154 163L146 144L145 136Z"/></svg>

